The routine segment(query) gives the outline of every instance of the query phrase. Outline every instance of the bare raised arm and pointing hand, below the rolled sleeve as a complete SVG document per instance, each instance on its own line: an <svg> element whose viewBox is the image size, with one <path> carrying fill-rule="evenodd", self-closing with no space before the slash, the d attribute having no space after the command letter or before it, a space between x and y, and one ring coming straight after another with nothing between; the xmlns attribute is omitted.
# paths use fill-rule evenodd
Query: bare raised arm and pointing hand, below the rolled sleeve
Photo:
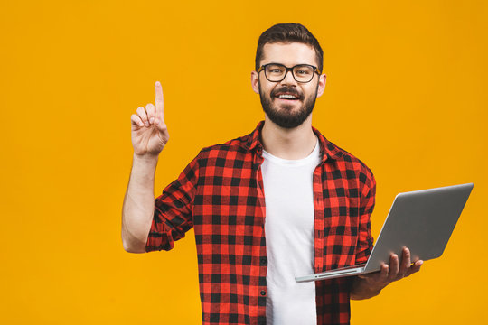
<svg viewBox="0 0 488 325"><path fill-rule="evenodd" d="M169 140L164 124L163 89L155 83L155 106L137 108L131 116L134 147L132 171L122 207L122 243L130 253L144 253L155 210L155 168Z"/></svg>

